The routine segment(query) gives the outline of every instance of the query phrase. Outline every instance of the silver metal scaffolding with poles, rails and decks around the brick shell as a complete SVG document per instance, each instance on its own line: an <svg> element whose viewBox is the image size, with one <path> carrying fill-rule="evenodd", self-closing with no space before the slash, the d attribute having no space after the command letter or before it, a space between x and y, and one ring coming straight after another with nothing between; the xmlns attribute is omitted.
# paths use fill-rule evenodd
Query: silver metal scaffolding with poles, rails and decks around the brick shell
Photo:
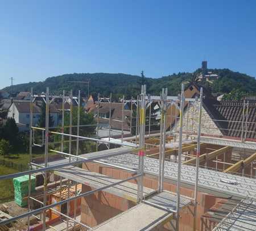
<svg viewBox="0 0 256 231"><path fill-rule="evenodd" d="M175 230L179 230L179 218L180 218L180 209L183 207L186 207L189 204L194 205L194 211L193 211L193 230L196 230L196 216L197 216L197 209L196 205L198 202L198 191L199 191L199 184L201 183L202 179L200 177L203 175L203 177L207 177L207 174L209 173L203 173L200 169L200 160L203 158L200 155L200 146L205 145L204 143L210 143L210 142L216 142L214 144L221 145L223 142L231 142L226 141L223 138L215 138L215 137L209 137L209 140L207 140L207 137L201 136L201 123L202 123L202 107L203 107L203 88L200 90L200 96L198 98L185 98L184 96L184 85L181 85L181 94L178 96L168 96L168 89L164 88L162 89L162 94L160 96L151 96L147 95L146 93L146 85L142 85L141 88L141 94L138 95L137 100L134 98L131 98L130 100L126 100L125 96L122 97L121 103L122 103L122 120L118 120L122 123L121 127L121 137L119 138L112 138L112 94L107 97L101 97L100 94L98 94L98 101L97 101L97 115L96 115L96 124L80 124L80 106L81 106L81 93L78 92L77 96L73 96L72 90L70 91L69 95L65 94L65 91L63 91L63 94L60 96L57 95L50 95L49 94L49 88L47 87L45 94L33 94L33 90L31 89L31 100L30 100L30 170L24 171L22 173L15 173L10 175L3 175L0 176L0 180L3 179L11 179L14 177L19 177L22 175L28 175L28 212L16 216L11 217L10 219L0 221L0 225L7 224L9 222L13 222L15 220L27 217L27 225L28 230L30 229L30 217L34 216L39 220L42 220L42 229L47 230L47 211L51 210L56 213L59 213L59 215L63 216L65 218L66 223L66 230L70 230L72 227L76 227L76 225L80 225L81 227L84 227L86 230L94 230L88 225L85 225L84 223L80 222L77 219L76 214L76 206L77 206L77 199L94 194L98 191L104 191L108 190L109 188L113 188L114 186L120 186L121 190L122 187L125 186L126 183L129 182L129 180L137 179L137 199L136 202L138 205L136 208L129 209L129 212L126 211L123 214L123 216L129 216L130 212L134 212L135 209L140 210L142 207L145 207L148 209L154 208L154 213L157 214L159 212L159 216L163 216L164 221L168 221L170 217L172 219L175 219ZM46 104L46 121L45 121L45 127L40 128L36 127L34 125L33 121L33 105L37 99L42 99L43 102ZM50 112L50 105L51 103L55 102L55 100L61 100L62 101L62 108L61 108L61 127L49 127L49 115ZM108 102L109 103L109 127L108 129L108 137L101 138L99 137L99 131L101 129L100 126L100 105L101 102ZM69 108L65 108L65 104L69 104ZM124 131L123 131L123 123L125 122L124 118L124 107L125 104L130 104L130 132L132 132L133 127L135 127L135 136L131 137L124 137ZM151 132L151 106L153 103L156 103L158 107L160 108L160 132L159 133L152 133ZM73 104L77 106L77 124L73 124ZM198 108L199 115L197 118L195 118L192 114L192 127L195 124L193 120L198 119L199 126L197 128L197 131L194 131L194 128L192 128L192 131L189 133L188 129L188 123L187 127L185 128L185 132L183 132L183 117L184 117L184 108L185 105L187 107L192 106L192 108ZM245 104L244 104L245 105ZM177 132L177 127L175 128L175 131L171 129L170 126L170 132L167 132L167 110L168 108L172 108L172 106L175 107L175 117L174 121L175 124L177 124L177 121L179 121L179 132ZM136 110L136 117L133 117L133 111ZM146 116L146 110L149 110L149 116ZM65 120L65 111L69 112L69 125L64 125ZM248 111L248 110L246 110ZM171 115L172 116L172 115ZM246 119L245 119L246 118ZM127 118L126 118L127 119ZM133 119L135 119L135 125L133 125ZM187 111L187 121L189 118L189 111ZM244 121L246 120L246 121ZM148 121L148 124L146 124L146 121ZM249 145L250 148L256 147L254 142L250 142L246 140L246 133L247 133L247 114L245 115L245 106L243 108L243 120L242 120L242 138L239 143L243 146L243 148L246 147L246 145ZM96 126L96 137L85 137L80 135L80 128L82 127L88 127L88 126ZM148 126L148 133L146 134L146 127ZM65 133L65 128L69 129L68 133ZM76 135L73 134L73 128L76 128ZM61 131L58 132L57 129L60 129ZM42 139L41 143L36 143L35 133L36 131L42 132ZM58 135L61 136L60 143L60 150L55 150L52 148L49 148L49 144L56 144L56 142L52 142L49 137L51 135ZM185 135L185 136L184 136ZM146 144L145 144L145 138L146 137L155 137L159 136L159 145L157 146L159 148L159 161L154 158L148 158L146 157ZM174 143L177 142L176 150L177 152L177 161L175 163L171 163L170 159L168 159L167 154L168 151L166 148L166 138L167 136L174 137ZM65 137L68 137L68 140L65 141ZM74 138L74 140L72 140ZM120 139L121 138L121 139ZM196 140L195 140L196 138ZM189 141L190 139L190 141ZM132 142L134 140L134 142ZM213 140L213 141L212 141ZM215 140L215 141L214 141ZM217 140L217 141L216 141ZM92 152L89 154L80 154L79 153L79 144L81 141L92 141L96 142L96 152ZM196 148L196 156L193 157L192 161L195 162L196 166L193 169L187 170L184 163L182 163L183 152L186 152L185 150L189 150L188 146L183 146L183 144L188 142L193 142L190 149ZM65 142L68 143L68 152L64 152L64 144ZM72 142L76 142L76 153L72 154ZM204 142L203 144L201 142ZM232 140L233 142L233 140ZM234 141L235 142L235 141ZM236 140L237 142L237 140ZM252 143L252 144L251 144ZM98 145L99 144L105 144L107 146L107 150L104 151L98 151ZM119 148L112 149L112 145L119 146ZM241 146L240 145L240 146ZM40 146L44 147L44 164L36 164L32 163L32 147L33 146ZM232 146L232 145L230 145ZM256 148L255 148L256 149ZM226 150L226 149L225 149ZM49 161L49 151L57 153L61 156L64 156L64 159L61 161ZM138 155L135 158L134 153L137 152ZM171 151L174 152L174 151ZM170 153L169 153L170 154ZM212 153L213 157L217 157L218 153ZM154 162L155 161L155 162ZM158 161L158 162L156 162ZM216 160L217 161L217 160ZM81 171L81 175L84 174L84 170L80 167L76 167L77 165L81 165L82 163L86 162L96 162L101 163L106 166L112 166L118 169L126 170L132 172L134 175L133 177L129 177L123 180L114 179L110 181L111 183L106 184L101 183L100 186L96 187L94 190L82 192L81 194L77 194L77 179L72 178L71 174L63 174L63 169L65 171L68 171L68 169L74 169L76 168L77 171ZM146 164L145 164L146 163ZM173 165L173 166L170 166ZM189 166L191 167L191 166ZM143 186L143 176L145 173L152 174L152 171L149 171L148 169L153 170L154 174L158 176L158 189L156 191L148 191L147 188ZM172 169L172 170L170 170ZM63 179L67 178L67 198L64 200L57 201L53 204L47 204L47 195L48 195L48 177L49 173L53 173L60 175L60 189L59 192L61 194L63 190ZM172 171L172 173L171 173ZM184 173L185 171L185 173ZM189 172L190 171L190 172ZM36 198L34 198L31 195L31 175L35 173L42 173L44 178L44 184L43 184L43 201L40 201ZM167 192L163 190L163 182L164 179L170 178L169 173L172 174L172 179L175 179L176 184L176 194ZM193 173L193 174L191 174ZM184 176L186 177L187 182L190 182L190 186L193 186L194 188L194 195L192 198L187 198L183 195L181 195L181 183L184 183ZM97 177L101 177L101 175L97 175ZM214 182L215 176L210 176L211 179L208 180L210 182L210 185ZM93 181L93 177L90 179ZM88 177L89 180L89 177ZM201 181L200 181L201 180ZM71 182L75 182L75 196L70 197L70 188L72 186ZM81 179L81 182L83 179ZM81 183L80 182L80 183ZM217 183L218 184L218 183ZM219 183L220 185L224 185L225 183ZM219 187L220 185L217 185ZM228 188L230 190L232 186ZM223 191L225 191L223 189ZM146 192L146 193L145 193ZM246 191L248 194L250 190ZM244 192L242 192L244 193ZM242 194L241 193L241 194ZM253 194L253 193L251 193ZM236 195L240 195L240 192L237 192ZM254 195L250 195L254 196ZM161 199L164 198L164 201ZM75 200L75 210L74 210L74 216L71 217L69 215L69 203ZM40 208L32 209L31 203L32 201L36 201L40 204ZM59 211L56 211L55 207L56 205L63 205L67 203L67 214L61 213ZM163 212L164 211L164 214ZM119 215L120 216L122 216ZM40 216L39 216L40 215ZM42 216L41 216L42 215ZM41 219L42 217L42 219ZM105 225L109 226L111 222L114 222L115 218L112 219L112 221L104 222ZM156 225L159 225L158 222L159 217L156 216L155 220L150 221L149 223L145 224L147 226L147 230L150 230ZM104 225L102 224L102 225ZM101 226L102 226L101 225ZM100 227L100 226L99 226ZM101 228L95 228L95 230L100 230ZM113 229L114 230L114 229ZM146 229L145 229L146 230Z"/></svg>

